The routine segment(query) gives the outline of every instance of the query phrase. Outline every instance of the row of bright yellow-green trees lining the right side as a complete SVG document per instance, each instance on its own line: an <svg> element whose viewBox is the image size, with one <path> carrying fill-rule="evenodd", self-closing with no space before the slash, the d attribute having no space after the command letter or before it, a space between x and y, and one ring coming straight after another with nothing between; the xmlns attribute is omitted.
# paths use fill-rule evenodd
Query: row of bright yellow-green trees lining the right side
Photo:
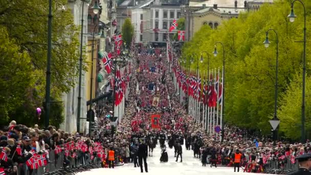
<svg viewBox="0 0 311 175"><path fill-rule="evenodd" d="M307 29L311 29L311 4L306 4ZM272 28L279 37L279 76L278 76L278 118L280 132L291 139L299 139L301 126L302 99L302 53L303 45L295 42L303 39L303 9L295 3L297 18L291 23L290 1L277 1L265 4L256 12L247 12L223 22L217 30L209 26L195 33L191 41L182 48L182 57L188 67L193 53L210 53L210 68L223 65L223 50L214 57L212 52L216 41L225 45L226 94L225 122L240 127L261 129L270 134L269 120L274 112L274 84L276 65L276 37L269 33L271 45L263 46L265 32ZM307 30L307 78L306 78L306 133L311 136L311 70L309 38ZM199 63L199 69L206 70L207 58ZM194 60L196 61L196 60ZM196 62L191 65L196 68Z"/></svg>

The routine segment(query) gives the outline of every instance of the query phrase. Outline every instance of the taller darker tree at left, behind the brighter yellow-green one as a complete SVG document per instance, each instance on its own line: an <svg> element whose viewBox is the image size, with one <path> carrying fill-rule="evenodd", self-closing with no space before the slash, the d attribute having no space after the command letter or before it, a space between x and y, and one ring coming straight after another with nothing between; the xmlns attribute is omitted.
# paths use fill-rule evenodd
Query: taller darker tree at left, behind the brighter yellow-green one
<svg viewBox="0 0 311 175"><path fill-rule="evenodd" d="M21 87L24 86L26 96L14 93L13 89L17 87L11 87L15 98L24 98L24 101L13 103L14 107L8 107L7 112L1 113L0 118L7 119L4 121L6 122L9 119L23 117L24 123L28 124L27 118L33 117L36 107L43 106L45 98L49 2L0 0L0 4L0 27L7 31L9 40L14 41L20 54L28 54L27 66L30 70L27 72L33 81L31 86L19 84ZM74 86L75 78L79 73L79 28L74 25L71 10L63 8L67 4L67 0L55 0L52 9L51 97L56 100L60 98L61 93L68 92ZM3 53L0 54L3 55ZM26 63L25 60L23 62ZM15 67L14 62L7 66L12 69ZM0 72L3 71L3 69L0 70ZM15 71L18 72L19 69ZM15 85L18 86L18 84ZM16 115L18 111L21 113Z"/></svg>

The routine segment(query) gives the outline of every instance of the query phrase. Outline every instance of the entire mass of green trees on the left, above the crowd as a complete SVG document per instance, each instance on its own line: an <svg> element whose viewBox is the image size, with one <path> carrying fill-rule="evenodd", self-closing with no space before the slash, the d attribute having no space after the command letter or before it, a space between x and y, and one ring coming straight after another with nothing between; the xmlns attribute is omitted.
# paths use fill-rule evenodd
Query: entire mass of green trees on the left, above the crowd
<svg viewBox="0 0 311 175"><path fill-rule="evenodd" d="M0 0L0 125L14 119L37 123L36 107L44 106L48 1ZM53 1L51 123L63 120L61 94L74 86L78 75L78 26L67 0ZM44 115L44 109L42 108ZM41 116L41 119L44 116ZM43 121L39 122L43 123Z"/></svg>

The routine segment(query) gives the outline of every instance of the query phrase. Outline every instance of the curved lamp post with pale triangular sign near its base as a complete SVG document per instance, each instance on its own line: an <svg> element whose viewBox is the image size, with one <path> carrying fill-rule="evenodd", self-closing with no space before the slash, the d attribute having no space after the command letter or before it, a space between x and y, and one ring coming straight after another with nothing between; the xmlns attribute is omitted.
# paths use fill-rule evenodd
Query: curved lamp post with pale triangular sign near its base
<svg viewBox="0 0 311 175"><path fill-rule="evenodd" d="M274 93L274 117L273 120L277 121L277 100L278 100L278 66L279 66L279 39L278 39L278 33L274 29L269 29L265 33L265 40L263 42L264 47L268 48L270 45L270 41L268 39L268 34L270 31L273 31L276 35L276 67L275 67L275 93ZM274 126L272 126L274 127ZM276 126L277 127L277 126ZM273 128L273 138L274 140L277 139L277 129Z"/></svg>

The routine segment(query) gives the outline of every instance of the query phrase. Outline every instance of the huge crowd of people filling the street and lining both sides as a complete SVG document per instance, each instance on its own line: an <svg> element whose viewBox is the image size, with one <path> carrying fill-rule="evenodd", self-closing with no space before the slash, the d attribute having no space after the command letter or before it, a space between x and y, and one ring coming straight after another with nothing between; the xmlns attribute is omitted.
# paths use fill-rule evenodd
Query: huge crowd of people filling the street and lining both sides
<svg viewBox="0 0 311 175"><path fill-rule="evenodd" d="M45 161L38 164L39 167L50 163L51 150L56 158L64 152L64 163L68 165L71 159L85 159L87 153L90 159L99 159L102 167L133 163L141 171L144 166L147 172L146 157L153 156L153 148L158 142L162 149L161 162L168 161L168 148L174 149L175 161L180 158L182 162L181 145L185 144L184 151L193 151L193 159L199 159L202 166L208 163L210 167L234 166L234 171L243 166L247 172L263 172L273 161L278 168L295 164L296 156L311 153L311 144L274 144L271 139L251 135L246 129L234 126L225 126L223 142L219 134L207 133L187 114L175 95L169 63L164 55L161 51L134 54L139 60L137 71L130 77L124 117L116 132L110 125L111 106L95 105L98 130L90 138L53 126L42 130L37 125L27 127L12 121L0 130L0 173L14 174L18 167L21 171L32 172L36 169L34 160L39 160L35 157L44 157ZM150 116L153 114L161 116L159 123L152 123Z"/></svg>

